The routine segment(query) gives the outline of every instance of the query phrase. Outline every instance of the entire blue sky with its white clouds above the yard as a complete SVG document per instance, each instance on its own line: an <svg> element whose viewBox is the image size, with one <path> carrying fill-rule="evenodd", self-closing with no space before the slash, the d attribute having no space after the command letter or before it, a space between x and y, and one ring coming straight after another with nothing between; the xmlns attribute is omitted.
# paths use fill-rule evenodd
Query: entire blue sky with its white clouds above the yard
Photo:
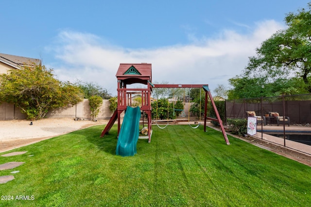
<svg viewBox="0 0 311 207"><path fill-rule="evenodd" d="M256 47L310 0L1 1L0 53L42 59L60 80L116 94L120 63L154 82L228 87Z"/></svg>

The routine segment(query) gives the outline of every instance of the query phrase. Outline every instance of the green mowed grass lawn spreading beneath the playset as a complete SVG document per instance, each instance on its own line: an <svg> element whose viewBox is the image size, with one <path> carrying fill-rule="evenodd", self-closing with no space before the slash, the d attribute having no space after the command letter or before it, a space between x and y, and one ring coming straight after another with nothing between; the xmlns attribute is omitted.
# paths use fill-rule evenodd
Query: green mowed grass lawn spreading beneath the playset
<svg viewBox="0 0 311 207"><path fill-rule="evenodd" d="M0 171L0 206L269 206L311 204L311 168L221 132L203 127L153 126L151 143L138 140L134 157L116 156L117 127L71 132L13 151ZM6 152L8 153L8 152ZM6 154L6 153L0 153ZM29 157L29 155L34 155ZM16 196L34 200L16 200ZM2 197L3 198L3 197Z"/></svg>

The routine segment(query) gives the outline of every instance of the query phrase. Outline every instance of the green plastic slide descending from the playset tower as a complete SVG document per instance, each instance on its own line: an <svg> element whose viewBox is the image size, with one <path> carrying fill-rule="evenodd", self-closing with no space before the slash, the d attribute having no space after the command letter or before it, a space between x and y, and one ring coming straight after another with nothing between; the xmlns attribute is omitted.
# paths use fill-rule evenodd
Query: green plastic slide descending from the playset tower
<svg viewBox="0 0 311 207"><path fill-rule="evenodd" d="M134 156L137 153L136 145L139 136L139 107L127 107L121 125L116 154L121 156Z"/></svg>

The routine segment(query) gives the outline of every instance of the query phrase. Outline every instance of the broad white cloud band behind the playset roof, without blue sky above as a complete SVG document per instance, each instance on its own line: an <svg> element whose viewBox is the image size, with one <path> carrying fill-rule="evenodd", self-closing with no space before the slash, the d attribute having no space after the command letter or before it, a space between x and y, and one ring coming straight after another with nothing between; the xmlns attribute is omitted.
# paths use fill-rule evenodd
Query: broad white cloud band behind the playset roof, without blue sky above
<svg viewBox="0 0 311 207"><path fill-rule="evenodd" d="M52 47L57 65L52 65L60 80L94 81L116 94L115 77L120 63L151 63L153 81L182 84L218 84L239 75L255 48L282 25L273 20L255 24L247 34L224 30L217 38L196 39L189 45L162 48L120 48L88 33L63 31Z"/></svg>

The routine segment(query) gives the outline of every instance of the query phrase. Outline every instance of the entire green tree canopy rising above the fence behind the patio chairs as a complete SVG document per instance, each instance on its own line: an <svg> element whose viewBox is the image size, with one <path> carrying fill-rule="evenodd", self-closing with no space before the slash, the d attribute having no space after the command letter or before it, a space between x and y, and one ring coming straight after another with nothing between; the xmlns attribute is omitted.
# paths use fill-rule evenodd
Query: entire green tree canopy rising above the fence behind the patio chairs
<svg viewBox="0 0 311 207"><path fill-rule="evenodd" d="M229 98L237 97L232 91L239 92L243 84L244 87L251 85L243 97L311 93L310 10L311 3L308 3L308 9L286 15L287 28L276 32L256 48L256 55L249 57L242 75L229 80L234 87ZM272 86L275 86L273 90Z"/></svg>

